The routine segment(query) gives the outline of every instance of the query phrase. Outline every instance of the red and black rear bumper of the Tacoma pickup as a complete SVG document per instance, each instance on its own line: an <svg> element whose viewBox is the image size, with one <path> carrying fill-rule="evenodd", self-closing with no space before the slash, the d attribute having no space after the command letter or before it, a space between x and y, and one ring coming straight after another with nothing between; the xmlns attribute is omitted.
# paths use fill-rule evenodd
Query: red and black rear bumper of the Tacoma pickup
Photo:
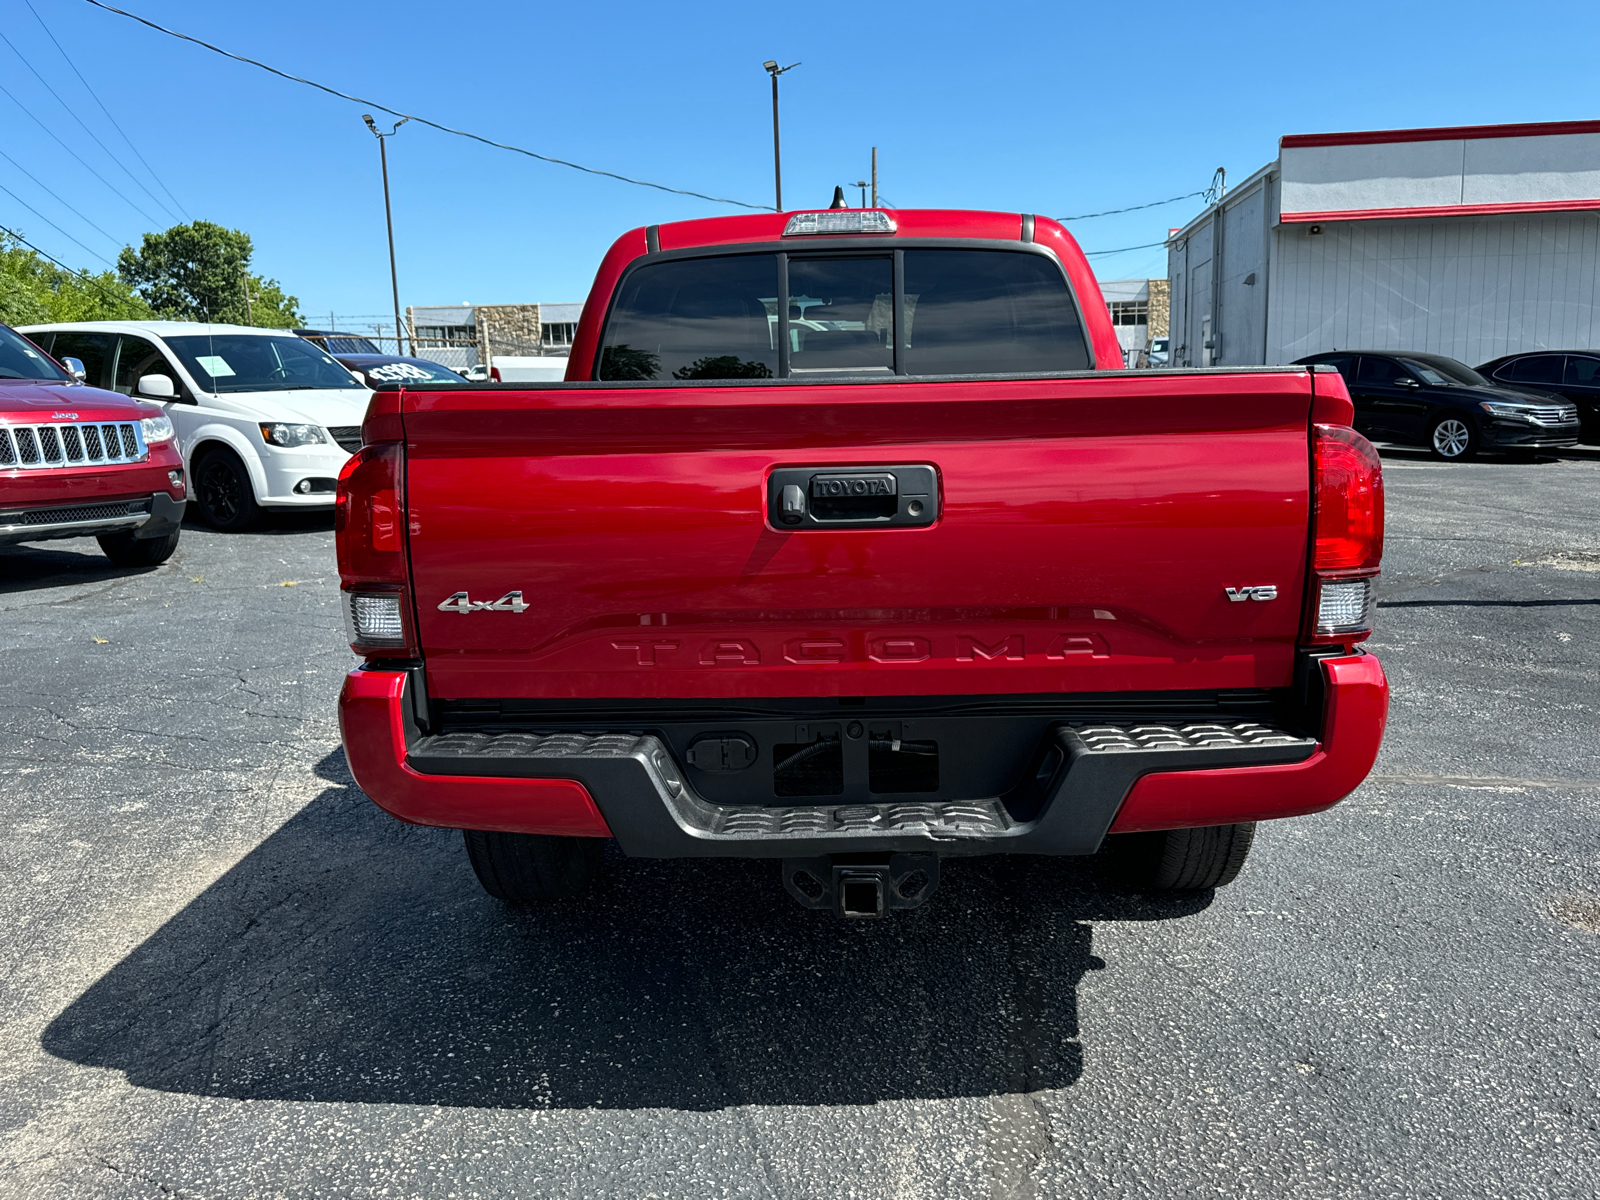
<svg viewBox="0 0 1600 1200"><path fill-rule="evenodd" d="M1378 755L1389 688L1371 654L1320 667L1317 739L1254 722L1062 722L1011 792L947 802L714 805L648 733L426 738L403 670L352 670L339 720L357 782L416 824L616 837L645 858L1093 854L1107 832L1298 816L1349 795Z"/></svg>

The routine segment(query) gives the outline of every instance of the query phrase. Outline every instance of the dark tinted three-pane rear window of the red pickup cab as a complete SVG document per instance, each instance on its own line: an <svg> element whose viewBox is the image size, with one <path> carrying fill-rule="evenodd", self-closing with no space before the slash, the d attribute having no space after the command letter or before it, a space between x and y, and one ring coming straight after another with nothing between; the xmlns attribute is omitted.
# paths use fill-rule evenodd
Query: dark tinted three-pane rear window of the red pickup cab
<svg viewBox="0 0 1600 1200"><path fill-rule="evenodd" d="M1077 306L1053 259L1008 250L910 248L901 264L896 272L890 251L646 262L618 290L595 378L1000 374L1091 366ZM896 315L904 325L899 339Z"/></svg>

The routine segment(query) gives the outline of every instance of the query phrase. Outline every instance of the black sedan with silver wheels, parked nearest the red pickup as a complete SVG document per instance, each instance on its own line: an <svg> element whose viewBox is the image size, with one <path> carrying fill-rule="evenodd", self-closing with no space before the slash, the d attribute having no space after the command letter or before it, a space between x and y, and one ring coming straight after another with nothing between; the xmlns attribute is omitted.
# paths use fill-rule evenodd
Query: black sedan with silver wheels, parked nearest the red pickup
<svg viewBox="0 0 1600 1200"><path fill-rule="evenodd" d="M1355 402L1355 427L1374 442L1427 446L1438 458L1478 450L1578 445L1578 410L1549 392L1490 382L1442 354L1333 350L1298 365L1333 363Z"/></svg>

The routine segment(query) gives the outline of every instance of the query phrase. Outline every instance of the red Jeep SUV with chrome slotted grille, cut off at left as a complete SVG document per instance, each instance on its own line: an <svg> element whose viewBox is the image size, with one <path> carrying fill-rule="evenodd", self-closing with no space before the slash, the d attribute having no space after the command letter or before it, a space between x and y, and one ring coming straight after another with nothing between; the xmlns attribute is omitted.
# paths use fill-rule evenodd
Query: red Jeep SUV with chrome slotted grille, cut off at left
<svg viewBox="0 0 1600 1200"><path fill-rule="evenodd" d="M66 362L0 325L0 544L94 536L117 566L166 562L187 498L173 422Z"/></svg>

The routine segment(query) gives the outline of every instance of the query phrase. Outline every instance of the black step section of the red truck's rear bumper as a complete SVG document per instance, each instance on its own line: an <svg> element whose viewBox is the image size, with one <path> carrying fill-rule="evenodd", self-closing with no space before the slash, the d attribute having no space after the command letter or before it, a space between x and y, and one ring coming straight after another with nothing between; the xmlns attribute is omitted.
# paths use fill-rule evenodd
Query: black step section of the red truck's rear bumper
<svg viewBox="0 0 1600 1200"><path fill-rule="evenodd" d="M798 859L859 851L1093 854L1123 797L1150 771L1256 766L1309 758L1312 738L1259 722L1061 723L1026 782L1003 797L755 806L694 794L666 744L638 733L482 733L421 738L413 771L576 779L627 854Z"/></svg>

